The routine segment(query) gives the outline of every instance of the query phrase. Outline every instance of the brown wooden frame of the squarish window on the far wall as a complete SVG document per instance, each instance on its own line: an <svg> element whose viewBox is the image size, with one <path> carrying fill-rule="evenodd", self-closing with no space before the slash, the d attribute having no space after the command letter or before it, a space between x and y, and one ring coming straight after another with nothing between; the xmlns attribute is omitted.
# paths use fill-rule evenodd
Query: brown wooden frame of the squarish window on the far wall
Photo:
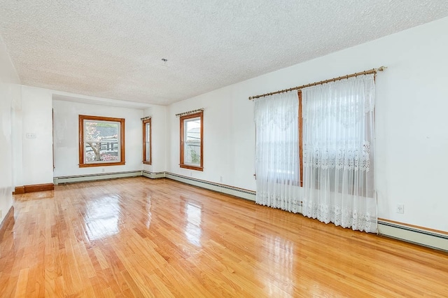
<svg viewBox="0 0 448 298"><path fill-rule="evenodd" d="M85 163L84 162L84 120L96 120L96 121L109 121L120 123L120 162L97 162L97 163ZM79 130L79 167L87 168L91 166L123 166L125 164L125 119L124 118L110 118L102 116L91 115L79 115L78 121Z"/></svg>

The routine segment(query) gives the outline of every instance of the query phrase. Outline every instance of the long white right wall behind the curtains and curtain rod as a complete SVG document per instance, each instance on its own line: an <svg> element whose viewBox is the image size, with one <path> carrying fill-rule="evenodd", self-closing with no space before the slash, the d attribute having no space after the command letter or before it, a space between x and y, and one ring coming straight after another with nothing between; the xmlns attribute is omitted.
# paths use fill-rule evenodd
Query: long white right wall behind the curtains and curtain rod
<svg viewBox="0 0 448 298"><path fill-rule="evenodd" d="M167 170L255 190L251 95L388 66L377 76L379 218L448 232L448 17L167 108ZM262 62L260 62L262 63ZM204 172L179 168L179 119L205 108ZM395 213L397 204L405 213Z"/></svg>

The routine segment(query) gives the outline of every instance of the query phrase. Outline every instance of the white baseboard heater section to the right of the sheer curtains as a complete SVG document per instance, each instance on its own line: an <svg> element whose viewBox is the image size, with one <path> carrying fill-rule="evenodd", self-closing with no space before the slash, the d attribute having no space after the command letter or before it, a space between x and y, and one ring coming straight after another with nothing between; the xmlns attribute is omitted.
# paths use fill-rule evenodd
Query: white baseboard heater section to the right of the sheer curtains
<svg viewBox="0 0 448 298"><path fill-rule="evenodd" d="M378 220L378 234L420 246L448 251L448 235L427 229L400 225L398 222Z"/></svg>

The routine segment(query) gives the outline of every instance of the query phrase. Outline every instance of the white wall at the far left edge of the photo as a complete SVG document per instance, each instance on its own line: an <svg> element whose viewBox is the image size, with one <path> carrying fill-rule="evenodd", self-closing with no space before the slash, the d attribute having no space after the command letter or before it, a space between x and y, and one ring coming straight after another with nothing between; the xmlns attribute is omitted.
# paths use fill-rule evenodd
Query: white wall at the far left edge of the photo
<svg viewBox="0 0 448 298"><path fill-rule="evenodd" d="M0 224L13 206L13 102L20 96L20 79L0 36Z"/></svg>

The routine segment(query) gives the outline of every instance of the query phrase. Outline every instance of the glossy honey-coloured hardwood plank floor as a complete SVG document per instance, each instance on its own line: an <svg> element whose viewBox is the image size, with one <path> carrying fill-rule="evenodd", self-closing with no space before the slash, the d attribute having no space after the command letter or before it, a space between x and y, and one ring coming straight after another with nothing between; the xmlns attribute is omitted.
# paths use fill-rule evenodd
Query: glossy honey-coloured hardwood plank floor
<svg viewBox="0 0 448 298"><path fill-rule="evenodd" d="M169 179L15 196L0 297L448 297L448 254Z"/></svg>

